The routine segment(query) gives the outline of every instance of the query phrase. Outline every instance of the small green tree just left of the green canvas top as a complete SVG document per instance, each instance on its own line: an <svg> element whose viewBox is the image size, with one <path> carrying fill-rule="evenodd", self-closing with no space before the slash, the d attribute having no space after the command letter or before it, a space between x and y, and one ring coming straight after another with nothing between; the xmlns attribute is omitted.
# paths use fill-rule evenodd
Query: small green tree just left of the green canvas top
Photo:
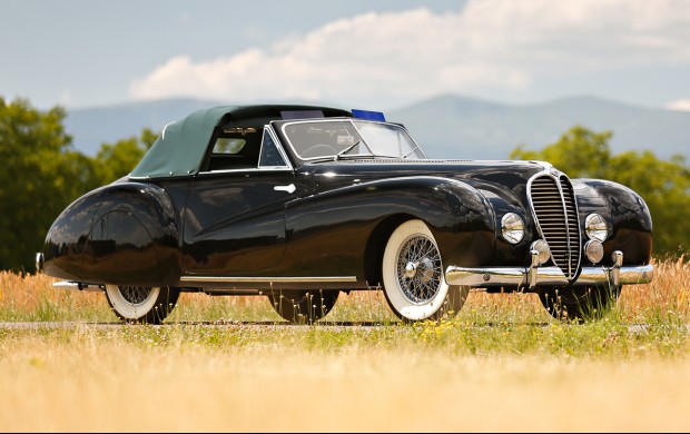
<svg viewBox="0 0 690 434"><path fill-rule="evenodd" d="M138 138L131 136L115 144L101 144L95 161L101 184L129 175L157 138L154 131L144 128Z"/></svg>

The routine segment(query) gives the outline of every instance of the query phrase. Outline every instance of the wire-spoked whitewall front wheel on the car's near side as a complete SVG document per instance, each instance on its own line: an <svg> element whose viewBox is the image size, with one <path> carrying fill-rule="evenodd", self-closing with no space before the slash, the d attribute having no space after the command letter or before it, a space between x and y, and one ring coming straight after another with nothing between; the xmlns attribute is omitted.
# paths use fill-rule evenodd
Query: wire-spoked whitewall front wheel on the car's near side
<svg viewBox="0 0 690 434"><path fill-rule="evenodd" d="M388 306L405 322L455 316L470 293L469 286L445 282L436 240L422 220L405 221L393 231L382 276Z"/></svg>

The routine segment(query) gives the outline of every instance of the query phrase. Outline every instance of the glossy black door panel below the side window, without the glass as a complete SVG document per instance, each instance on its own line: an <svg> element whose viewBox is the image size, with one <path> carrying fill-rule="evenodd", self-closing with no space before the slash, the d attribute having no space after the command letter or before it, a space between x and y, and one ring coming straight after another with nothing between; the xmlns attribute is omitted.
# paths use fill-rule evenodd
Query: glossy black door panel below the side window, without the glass
<svg viewBox="0 0 690 434"><path fill-rule="evenodd" d="M285 201L275 186L292 171L201 174L190 183L183 269L190 274L255 275L285 255Z"/></svg>

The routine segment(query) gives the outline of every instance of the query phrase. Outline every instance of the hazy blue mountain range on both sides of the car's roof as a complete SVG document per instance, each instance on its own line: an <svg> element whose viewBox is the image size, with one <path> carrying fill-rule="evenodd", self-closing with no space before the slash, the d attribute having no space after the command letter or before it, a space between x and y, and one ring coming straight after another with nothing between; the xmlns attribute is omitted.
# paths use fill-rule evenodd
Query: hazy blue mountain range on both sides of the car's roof
<svg viewBox="0 0 690 434"><path fill-rule="evenodd" d="M226 102L168 99L68 110L65 127L77 150L96 155L102 142L155 131L188 114ZM539 150L574 125L613 131L614 154L652 150L659 158L690 157L690 112L649 109L595 97L510 106L440 96L385 114L404 124L431 158L504 159L518 145Z"/></svg>

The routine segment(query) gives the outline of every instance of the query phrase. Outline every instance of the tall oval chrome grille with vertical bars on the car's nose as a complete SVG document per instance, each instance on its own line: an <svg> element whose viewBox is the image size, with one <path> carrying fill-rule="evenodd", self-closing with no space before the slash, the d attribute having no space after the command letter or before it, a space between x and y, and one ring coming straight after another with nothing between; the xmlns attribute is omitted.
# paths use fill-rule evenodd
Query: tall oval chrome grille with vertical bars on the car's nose
<svg viewBox="0 0 690 434"><path fill-rule="evenodd" d="M551 259L569 280L575 278L580 267L580 224L570 179L564 175L535 176L530 200L539 231L551 248Z"/></svg>

